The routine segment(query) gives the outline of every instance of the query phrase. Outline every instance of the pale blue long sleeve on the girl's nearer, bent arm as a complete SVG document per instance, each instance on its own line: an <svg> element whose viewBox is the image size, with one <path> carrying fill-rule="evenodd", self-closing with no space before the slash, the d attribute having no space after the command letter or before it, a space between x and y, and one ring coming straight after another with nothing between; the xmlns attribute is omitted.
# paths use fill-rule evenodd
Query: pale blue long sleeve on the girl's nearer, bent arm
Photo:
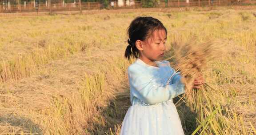
<svg viewBox="0 0 256 135"><path fill-rule="evenodd" d="M184 92L184 85L180 81L163 86L154 80L153 76L141 71L128 68L128 77L132 94L144 103L155 104L167 101Z"/></svg>

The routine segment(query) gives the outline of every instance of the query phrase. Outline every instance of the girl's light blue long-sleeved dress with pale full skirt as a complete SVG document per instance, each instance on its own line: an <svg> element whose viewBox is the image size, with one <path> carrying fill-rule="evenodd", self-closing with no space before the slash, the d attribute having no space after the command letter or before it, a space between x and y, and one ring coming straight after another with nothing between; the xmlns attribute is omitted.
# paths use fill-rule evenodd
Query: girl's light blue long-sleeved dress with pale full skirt
<svg viewBox="0 0 256 135"><path fill-rule="evenodd" d="M128 67L132 106L124 117L120 135L184 135L172 102L184 93L181 76L168 61L156 64L158 67L137 59Z"/></svg>

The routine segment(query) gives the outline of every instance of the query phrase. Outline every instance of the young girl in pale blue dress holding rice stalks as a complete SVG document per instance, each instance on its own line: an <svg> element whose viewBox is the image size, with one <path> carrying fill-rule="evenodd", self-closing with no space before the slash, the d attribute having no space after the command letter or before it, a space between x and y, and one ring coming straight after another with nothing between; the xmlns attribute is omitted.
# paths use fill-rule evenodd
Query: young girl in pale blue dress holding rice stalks
<svg viewBox="0 0 256 135"><path fill-rule="evenodd" d="M137 17L128 27L125 57L137 58L128 67L129 107L120 135L184 135L172 99L184 93L180 74L164 56L167 30L152 17ZM168 79L171 78L169 81ZM195 87L203 80L195 80Z"/></svg>

